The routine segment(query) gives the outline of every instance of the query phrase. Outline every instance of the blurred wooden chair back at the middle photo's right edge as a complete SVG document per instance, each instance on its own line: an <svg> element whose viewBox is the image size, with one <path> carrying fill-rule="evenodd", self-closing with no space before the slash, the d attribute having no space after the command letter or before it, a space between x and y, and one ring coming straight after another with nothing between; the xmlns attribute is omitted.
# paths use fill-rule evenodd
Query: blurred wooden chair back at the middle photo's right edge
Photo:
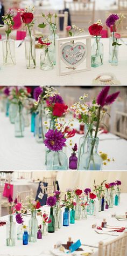
<svg viewBox="0 0 127 256"><path fill-rule="evenodd" d="M115 112L114 134L127 139L127 113L119 111Z"/></svg>

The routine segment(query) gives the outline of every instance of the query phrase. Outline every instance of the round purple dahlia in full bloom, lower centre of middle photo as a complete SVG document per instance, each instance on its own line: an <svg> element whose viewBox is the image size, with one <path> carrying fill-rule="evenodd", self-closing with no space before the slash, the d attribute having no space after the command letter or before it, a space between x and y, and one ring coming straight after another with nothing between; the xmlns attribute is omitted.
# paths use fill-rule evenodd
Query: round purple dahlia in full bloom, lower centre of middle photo
<svg viewBox="0 0 127 256"><path fill-rule="evenodd" d="M57 129L55 131L49 130L45 134L45 137L45 146L52 151L62 150L63 146L66 145L66 139L63 138L62 132L59 132Z"/></svg>

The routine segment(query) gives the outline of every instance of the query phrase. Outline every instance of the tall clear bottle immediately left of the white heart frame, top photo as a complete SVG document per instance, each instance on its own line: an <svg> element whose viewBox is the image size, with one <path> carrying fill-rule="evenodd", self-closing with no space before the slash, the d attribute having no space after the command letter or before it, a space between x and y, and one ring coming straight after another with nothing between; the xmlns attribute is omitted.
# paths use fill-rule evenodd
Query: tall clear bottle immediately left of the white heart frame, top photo
<svg viewBox="0 0 127 256"><path fill-rule="evenodd" d="M56 58L55 58L55 39L59 38L57 35L57 26L55 24L52 24L50 26L50 36L48 36L48 39L52 42L52 44L49 46L49 55L51 62L55 65L56 64Z"/></svg>

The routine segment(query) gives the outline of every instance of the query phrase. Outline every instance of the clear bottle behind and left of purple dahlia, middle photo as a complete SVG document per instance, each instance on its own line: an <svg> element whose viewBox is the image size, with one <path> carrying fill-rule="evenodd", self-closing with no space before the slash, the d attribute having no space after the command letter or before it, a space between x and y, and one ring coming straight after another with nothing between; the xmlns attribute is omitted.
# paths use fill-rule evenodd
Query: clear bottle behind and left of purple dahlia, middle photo
<svg viewBox="0 0 127 256"><path fill-rule="evenodd" d="M36 141L38 143L43 143L45 139L46 126L43 124L47 121L47 116L43 106L39 105L39 112L36 116Z"/></svg>

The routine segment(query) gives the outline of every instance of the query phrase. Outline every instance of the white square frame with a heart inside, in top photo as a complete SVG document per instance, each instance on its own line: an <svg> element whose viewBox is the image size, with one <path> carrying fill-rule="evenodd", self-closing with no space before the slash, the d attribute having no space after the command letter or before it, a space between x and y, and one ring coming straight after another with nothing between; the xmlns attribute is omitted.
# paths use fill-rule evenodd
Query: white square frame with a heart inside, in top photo
<svg viewBox="0 0 127 256"><path fill-rule="evenodd" d="M66 50L66 48L69 48L72 45L70 41L71 42L74 41L75 49L77 46L81 46L82 48L82 49L80 48L81 52L79 52L80 53L79 55L77 55L77 52L76 52L76 56L79 57L78 62L73 64L69 63L68 60L66 61L64 56L64 49ZM55 40L55 44L56 44L56 68L57 68L58 76L70 75L77 72L91 70L91 36L90 35L59 38Z"/></svg>

